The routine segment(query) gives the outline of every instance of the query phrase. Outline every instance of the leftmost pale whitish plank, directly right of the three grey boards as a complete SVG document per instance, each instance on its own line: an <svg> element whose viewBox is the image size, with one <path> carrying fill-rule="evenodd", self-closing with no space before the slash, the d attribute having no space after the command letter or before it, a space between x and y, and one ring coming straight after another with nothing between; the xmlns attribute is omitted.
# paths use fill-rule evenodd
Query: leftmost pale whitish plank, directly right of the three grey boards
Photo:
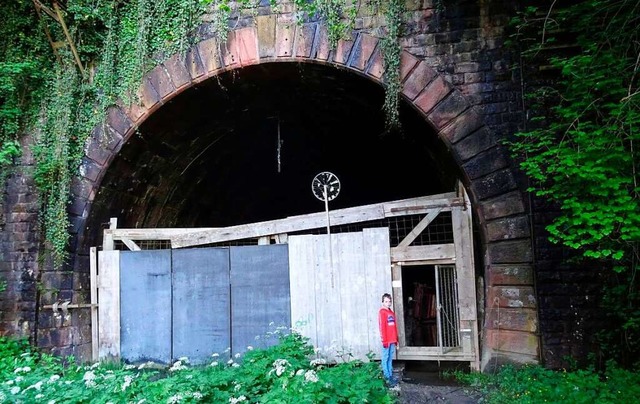
<svg viewBox="0 0 640 404"><path fill-rule="evenodd" d="M316 250L313 235L289 237L291 327L318 346L316 330Z"/></svg>

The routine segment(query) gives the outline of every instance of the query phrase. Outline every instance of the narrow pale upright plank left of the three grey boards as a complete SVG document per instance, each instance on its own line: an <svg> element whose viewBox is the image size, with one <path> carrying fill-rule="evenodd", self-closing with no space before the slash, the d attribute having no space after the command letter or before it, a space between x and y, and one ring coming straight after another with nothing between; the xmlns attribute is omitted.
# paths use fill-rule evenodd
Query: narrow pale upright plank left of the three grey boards
<svg viewBox="0 0 640 404"><path fill-rule="evenodd" d="M120 251L98 253L98 357L120 360Z"/></svg>

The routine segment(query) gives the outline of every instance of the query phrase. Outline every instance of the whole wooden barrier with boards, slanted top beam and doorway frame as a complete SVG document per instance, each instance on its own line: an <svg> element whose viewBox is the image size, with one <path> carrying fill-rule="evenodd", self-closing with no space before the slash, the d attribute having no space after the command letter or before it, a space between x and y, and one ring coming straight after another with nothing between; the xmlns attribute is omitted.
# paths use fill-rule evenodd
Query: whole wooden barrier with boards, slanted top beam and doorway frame
<svg viewBox="0 0 640 404"><path fill-rule="evenodd" d="M92 249L93 294L100 296L95 359L204 362L227 347L234 355L262 345L275 324L309 337L329 360L366 360L379 351L380 296L393 289L399 359L467 361L479 369L463 188L329 216L335 229L352 230L302 234L322 229L322 213L226 228L105 230L97 257ZM214 247L239 240L248 245ZM154 242L201 248L139 246Z"/></svg>

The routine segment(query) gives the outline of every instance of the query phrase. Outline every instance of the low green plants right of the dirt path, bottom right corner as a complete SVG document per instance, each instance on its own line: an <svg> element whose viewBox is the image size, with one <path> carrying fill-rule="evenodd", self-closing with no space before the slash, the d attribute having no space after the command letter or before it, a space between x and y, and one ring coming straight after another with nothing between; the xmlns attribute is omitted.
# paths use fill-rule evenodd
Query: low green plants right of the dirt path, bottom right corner
<svg viewBox="0 0 640 404"><path fill-rule="evenodd" d="M504 366L496 374L455 373L485 394L483 402L631 403L640 394L640 373L610 365L606 372L554 371L540 366Z"/></svg>

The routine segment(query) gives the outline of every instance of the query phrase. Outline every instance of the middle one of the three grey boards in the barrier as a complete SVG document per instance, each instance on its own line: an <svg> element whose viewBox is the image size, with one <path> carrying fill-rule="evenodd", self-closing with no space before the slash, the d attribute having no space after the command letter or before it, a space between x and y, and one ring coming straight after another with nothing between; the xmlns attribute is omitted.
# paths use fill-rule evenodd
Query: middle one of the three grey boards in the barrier
<svg viewBox="0 0 640 404"><path fill-rule="evenodd" d="M230 347L229 249L173 251L173 357L192 364Z"/></svg>

